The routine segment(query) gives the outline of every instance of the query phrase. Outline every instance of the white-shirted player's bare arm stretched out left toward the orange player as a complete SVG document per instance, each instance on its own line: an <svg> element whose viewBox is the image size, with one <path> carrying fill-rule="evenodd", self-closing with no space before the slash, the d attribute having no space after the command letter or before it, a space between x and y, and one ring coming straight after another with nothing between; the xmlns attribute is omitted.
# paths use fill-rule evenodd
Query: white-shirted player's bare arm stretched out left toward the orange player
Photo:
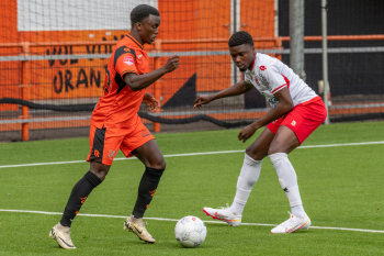
<svg viewBox="0 0 384 256"><path fill-rule="evenodd" d="M218 91L216 93L199 96L194 100L193 108L202 109L203 104L207 104L213 100L217 100L217 99L226 98L226 97L231 97L231 96L239 96L239 94L246 93L247 91L251 90L252 88L253 88L252 85L249 85L245 81L239 81L239 82L235 84L234 86L231 86L225 90Z"/></svg>

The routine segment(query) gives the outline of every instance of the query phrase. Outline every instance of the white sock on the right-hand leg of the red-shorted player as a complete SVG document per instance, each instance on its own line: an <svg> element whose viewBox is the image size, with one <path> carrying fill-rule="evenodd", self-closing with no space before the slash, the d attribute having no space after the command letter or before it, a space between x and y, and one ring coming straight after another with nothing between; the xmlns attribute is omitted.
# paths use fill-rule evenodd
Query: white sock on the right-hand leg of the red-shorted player
<svg viewBox="0 0 384 256"><path fill-rule="evenodd" d="M292 214L303 218L305 211L298 192L297 176L287 155L285 153L275 153L269 155L269 158L278 174L280 185L290 201Z"/></svg>

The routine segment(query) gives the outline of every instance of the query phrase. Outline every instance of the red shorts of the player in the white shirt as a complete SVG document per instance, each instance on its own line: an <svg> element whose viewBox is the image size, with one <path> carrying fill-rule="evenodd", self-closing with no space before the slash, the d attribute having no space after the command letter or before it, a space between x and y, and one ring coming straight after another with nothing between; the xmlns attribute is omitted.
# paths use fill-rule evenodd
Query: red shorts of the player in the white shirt
<svg viewBox="0 0 384 256"><path fill-rule="evenodd" d="M295 105L291 112L268 124L276 134L281 125L291 129L302 144L327 118L327 109L320 97Z"/></svg>

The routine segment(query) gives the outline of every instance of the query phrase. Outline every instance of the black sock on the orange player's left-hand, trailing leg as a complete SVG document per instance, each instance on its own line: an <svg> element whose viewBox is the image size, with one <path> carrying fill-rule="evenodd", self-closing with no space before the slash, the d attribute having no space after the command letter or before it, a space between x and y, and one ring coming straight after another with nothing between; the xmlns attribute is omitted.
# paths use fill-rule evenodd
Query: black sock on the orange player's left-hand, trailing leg
<svg viewBox="0 0 384 256"><path fill-rule="evenodd" d="M88 171L74 187L66 209L64 210L60 224L64 226L70 226L75 216L80 211L81 205L84 203L88 196L91 193L98 185L101 183L101 179L91 171Z"/></svg>

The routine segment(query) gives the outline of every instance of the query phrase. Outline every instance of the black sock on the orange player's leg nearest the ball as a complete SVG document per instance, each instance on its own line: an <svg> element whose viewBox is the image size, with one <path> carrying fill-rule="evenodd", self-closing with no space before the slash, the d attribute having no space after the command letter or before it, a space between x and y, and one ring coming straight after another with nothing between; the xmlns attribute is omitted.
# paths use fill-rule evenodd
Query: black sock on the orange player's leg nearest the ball
<svg viewBox="0 0 384 256"><path fill-rule="evenodd" d="M138 186L138 196L132 214L138 219L143 218L159 185L163 169L146 167L142 181Z"/></svg>

